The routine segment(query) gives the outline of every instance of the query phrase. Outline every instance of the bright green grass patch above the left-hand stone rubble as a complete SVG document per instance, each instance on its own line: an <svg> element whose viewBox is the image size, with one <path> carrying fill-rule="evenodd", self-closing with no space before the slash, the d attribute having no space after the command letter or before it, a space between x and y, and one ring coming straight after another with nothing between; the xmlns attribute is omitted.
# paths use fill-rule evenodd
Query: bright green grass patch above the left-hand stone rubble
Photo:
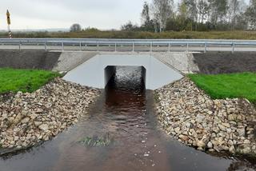
<svg viewBox="0 0 256 171"><path fill-rule="evenodd" d="M0 69L0 93L32 93L60 74L46 70Z"/></svg>

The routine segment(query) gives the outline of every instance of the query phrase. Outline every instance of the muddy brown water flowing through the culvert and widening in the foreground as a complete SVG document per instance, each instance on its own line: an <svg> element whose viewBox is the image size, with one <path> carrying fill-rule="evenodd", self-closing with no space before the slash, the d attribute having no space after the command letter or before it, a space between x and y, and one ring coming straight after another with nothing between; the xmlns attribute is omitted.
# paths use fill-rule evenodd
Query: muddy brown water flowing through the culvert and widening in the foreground
<svg viewBox="0 0 256 171"><path fill-rule="evenodd" d="M139 68L118 67L82 121L51 141L0 158L0 170L254 170L246 161L214 157L168 137L141 74ZM81 142L90 137L108 137L110 143Z"/></svg>

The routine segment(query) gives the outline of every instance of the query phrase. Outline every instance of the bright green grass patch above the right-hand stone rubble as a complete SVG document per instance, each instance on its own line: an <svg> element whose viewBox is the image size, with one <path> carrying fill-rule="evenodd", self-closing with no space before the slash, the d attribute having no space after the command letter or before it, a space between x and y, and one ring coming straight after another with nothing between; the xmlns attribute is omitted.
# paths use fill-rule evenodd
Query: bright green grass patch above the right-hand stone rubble
<svg viewBox="0 0 256 171"><path fill-rule="evenodd" d="M256 103L256 74L190 74L189 78L213 99L244 97Z"/></svg>

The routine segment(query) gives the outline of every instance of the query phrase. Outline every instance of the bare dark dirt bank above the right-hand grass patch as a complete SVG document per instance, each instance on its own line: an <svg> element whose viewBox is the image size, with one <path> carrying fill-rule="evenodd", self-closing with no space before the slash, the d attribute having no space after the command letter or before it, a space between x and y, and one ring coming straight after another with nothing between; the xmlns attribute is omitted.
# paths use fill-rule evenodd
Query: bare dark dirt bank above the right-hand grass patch
<svg viewBox="0 0 256 171"><path fill-rule="evenodd" d="M194 54L194 62L198 65L201 74L256 72L255 52Z"/></svg>

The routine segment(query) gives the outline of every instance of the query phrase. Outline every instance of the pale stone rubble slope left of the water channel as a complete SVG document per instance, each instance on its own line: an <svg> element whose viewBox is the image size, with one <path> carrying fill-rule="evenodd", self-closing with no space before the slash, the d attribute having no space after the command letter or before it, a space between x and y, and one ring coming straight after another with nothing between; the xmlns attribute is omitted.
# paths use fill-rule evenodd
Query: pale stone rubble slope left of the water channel
<svg viewBox="0 0 256 171"><path fill-rule="evenodd" d="M56 78L34 93L0 96L0 147L23 149L48 141L77 122L98 94Z"/></svg>

